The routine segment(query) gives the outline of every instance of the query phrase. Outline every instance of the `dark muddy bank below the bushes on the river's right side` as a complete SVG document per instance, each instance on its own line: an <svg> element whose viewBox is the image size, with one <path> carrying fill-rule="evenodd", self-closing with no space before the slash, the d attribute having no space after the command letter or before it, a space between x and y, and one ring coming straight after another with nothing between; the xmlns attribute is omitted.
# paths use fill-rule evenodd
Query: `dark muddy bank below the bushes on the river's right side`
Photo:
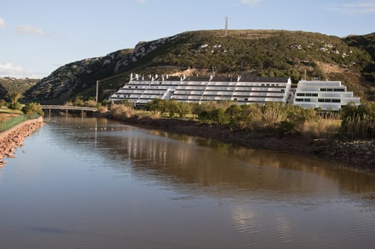
<svg viewBox="0 0 375 249"><path fill-rule="evenodd" d="M208 125L193 120L169 120L132 117L125 123L148 129L218 139L253 149L311 154L324 159L375 171L375 140L341 141L278 136L275 132L231 131L225 125Z"/></svg>

